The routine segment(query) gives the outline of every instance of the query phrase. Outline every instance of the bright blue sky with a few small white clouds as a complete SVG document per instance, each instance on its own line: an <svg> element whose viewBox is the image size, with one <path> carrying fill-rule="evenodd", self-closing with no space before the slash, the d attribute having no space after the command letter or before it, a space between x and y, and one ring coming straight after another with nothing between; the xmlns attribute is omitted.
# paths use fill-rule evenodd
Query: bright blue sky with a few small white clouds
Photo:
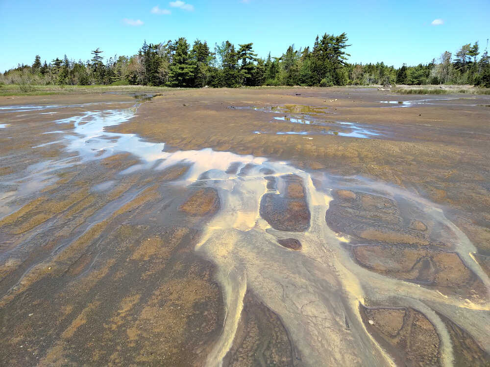
<svg viewBox="0 0 490 367"><path fill-rule="evenodd" d="M0 72L66 54L86 61L136 54L185 37L253 42L259 57L313 46L324 33L348 37L350 63L429 63L444 51L490 38L490 0L0 0Z"/></svg>

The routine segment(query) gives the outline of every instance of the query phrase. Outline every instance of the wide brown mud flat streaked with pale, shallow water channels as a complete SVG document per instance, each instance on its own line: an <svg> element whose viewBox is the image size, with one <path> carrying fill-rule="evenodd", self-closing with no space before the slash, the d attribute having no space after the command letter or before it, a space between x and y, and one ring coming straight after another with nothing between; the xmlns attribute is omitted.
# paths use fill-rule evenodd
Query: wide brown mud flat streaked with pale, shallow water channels
<svg viewBox="0 0 490 367"><path fill-rule="evenodd" d="M490 365L489 96L147 97L1 97L0 365Z"/></svg>

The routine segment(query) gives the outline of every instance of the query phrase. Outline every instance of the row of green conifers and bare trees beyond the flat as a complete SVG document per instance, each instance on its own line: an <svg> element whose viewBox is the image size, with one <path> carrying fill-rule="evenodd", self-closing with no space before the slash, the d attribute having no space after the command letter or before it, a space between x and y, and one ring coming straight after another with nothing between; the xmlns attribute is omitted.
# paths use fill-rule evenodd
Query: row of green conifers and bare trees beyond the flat
<svg viewBox="0 0 490 367"><path fill-rule="evenodd" d="M400 68L376 64L349 64L347 35L324 34L313 46L289 46L280 57L258 58L253 43L229 41L210 49L206 41L191 46L184 37L166 43L145 41L133 56L109 57L92 51L86 62L65 55L44 64L36 55L32 65L19 65L0 74L5 84L36 85L144 85L200 88L242 86L423 85L472 84L490 88L487 47L480 57L478 42L463 45L453 56L445 51L429 64Z"/></svg>

